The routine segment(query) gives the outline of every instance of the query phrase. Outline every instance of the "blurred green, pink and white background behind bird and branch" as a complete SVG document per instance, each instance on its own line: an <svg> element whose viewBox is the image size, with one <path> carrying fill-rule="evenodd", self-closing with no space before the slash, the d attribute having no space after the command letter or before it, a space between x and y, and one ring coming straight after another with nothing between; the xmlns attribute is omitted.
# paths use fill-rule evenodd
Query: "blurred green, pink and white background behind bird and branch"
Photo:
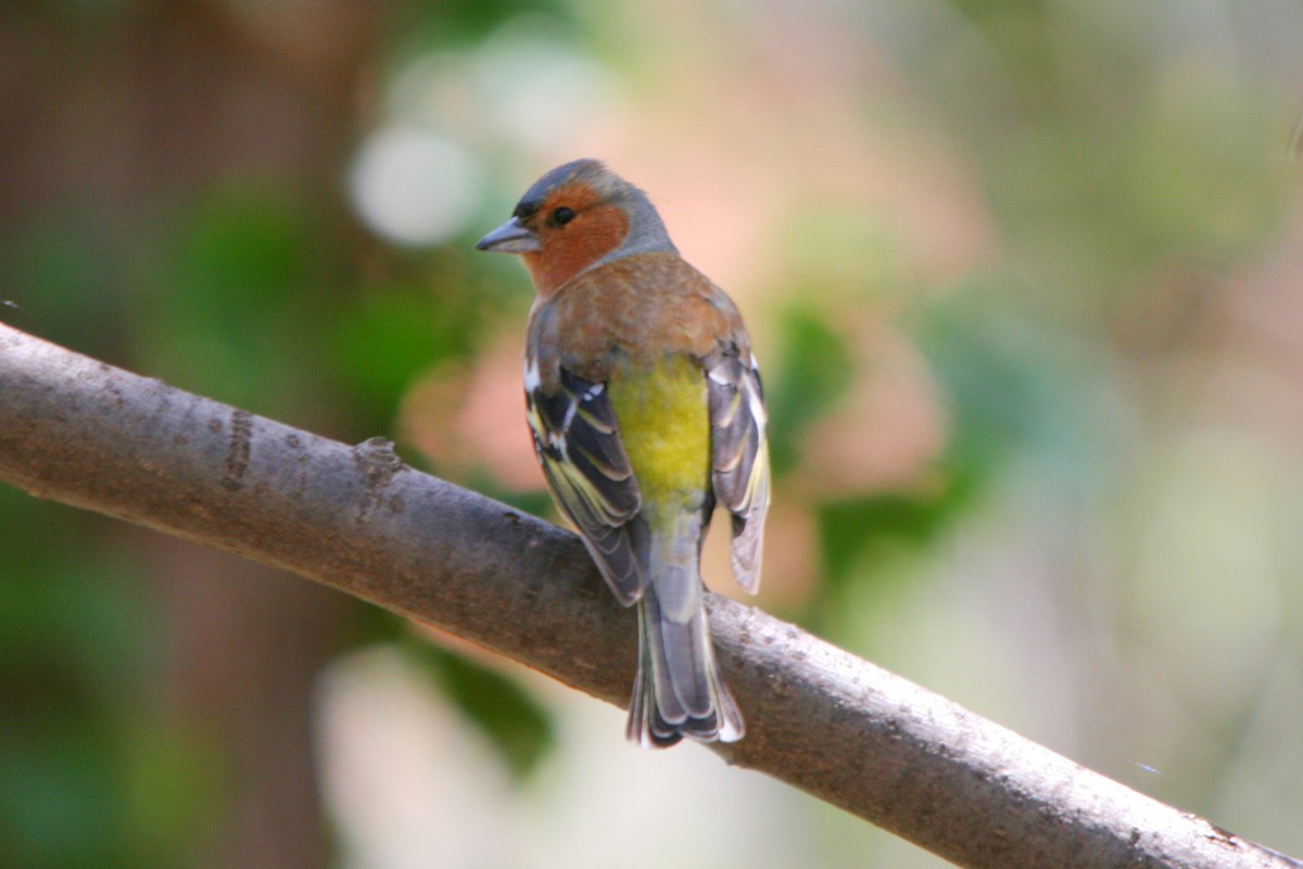
<svg viewBox="0 0 1303 869"><path fill-rule="evenodd" d="M472 243L603 157L751 324L764 608L1303 853L1300 46L1293 0L5 3L0 317L551 515ZM622 719L0 488L0 866L941 862Z"/></svg>

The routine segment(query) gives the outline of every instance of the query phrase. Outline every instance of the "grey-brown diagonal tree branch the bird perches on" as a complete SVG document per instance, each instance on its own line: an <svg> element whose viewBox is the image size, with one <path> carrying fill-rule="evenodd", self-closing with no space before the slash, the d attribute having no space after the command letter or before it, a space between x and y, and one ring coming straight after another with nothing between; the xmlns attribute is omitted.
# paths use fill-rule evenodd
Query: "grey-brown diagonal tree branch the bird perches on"
<svg viewBox="0 0 1303 869"><path fill-rule="evenodd" d="M404 466L0 324L0 479L275 565L624 705L635 623L579 540ZM9 533L22 533L10 528ZM804 631L710 597L728 762L964 866L1303 866Z"/></svg>

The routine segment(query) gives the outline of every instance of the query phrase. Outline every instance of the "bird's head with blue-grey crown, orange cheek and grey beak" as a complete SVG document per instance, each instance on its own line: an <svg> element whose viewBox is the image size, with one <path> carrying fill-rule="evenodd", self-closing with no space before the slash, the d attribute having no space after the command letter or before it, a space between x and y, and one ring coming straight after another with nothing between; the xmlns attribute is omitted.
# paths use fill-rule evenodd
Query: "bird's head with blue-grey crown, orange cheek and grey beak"
<svg viewBox="0 0 1303 869"><path fill-rule="evenodd" d="M675 250L646 194L597 160L567 163L536 181L511 220L476 247L520 254L539 295L594 265Z"/></svg>

